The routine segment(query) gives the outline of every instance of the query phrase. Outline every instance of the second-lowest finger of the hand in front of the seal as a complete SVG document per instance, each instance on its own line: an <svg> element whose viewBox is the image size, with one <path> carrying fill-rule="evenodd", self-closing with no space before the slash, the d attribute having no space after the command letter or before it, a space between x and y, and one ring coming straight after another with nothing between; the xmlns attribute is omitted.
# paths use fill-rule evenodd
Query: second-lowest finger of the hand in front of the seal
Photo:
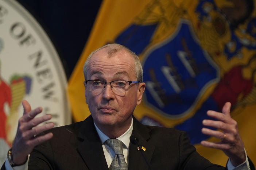
<svg viewBox="0 0 256 170"><path fill-rule="evenodd" d="M54 123L52 123L52 122L48 123L48 124L45 124L45 125L42 125L42 126L36 126L35 128L33 128L29 131L26 131L23 134L23 138L26 139L26 140L31 139L35 135L40 134L43 131L46 131L46 130L49 130L49 129L53 128L53 126L54 126Z"/></svg>

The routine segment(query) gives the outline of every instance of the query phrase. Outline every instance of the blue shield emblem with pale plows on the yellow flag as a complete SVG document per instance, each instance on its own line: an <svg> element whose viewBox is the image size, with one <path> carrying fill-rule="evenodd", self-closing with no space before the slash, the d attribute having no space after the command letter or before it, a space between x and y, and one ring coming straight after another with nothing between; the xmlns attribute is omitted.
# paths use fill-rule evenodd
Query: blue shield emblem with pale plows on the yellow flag
<svg viewBox="0 0 256 170"><path fill-rule="evenodd" d="M204 51L187 20L143 60L145 101L168 117L190 112L205 89L219 80L218 66Z"/></svg>

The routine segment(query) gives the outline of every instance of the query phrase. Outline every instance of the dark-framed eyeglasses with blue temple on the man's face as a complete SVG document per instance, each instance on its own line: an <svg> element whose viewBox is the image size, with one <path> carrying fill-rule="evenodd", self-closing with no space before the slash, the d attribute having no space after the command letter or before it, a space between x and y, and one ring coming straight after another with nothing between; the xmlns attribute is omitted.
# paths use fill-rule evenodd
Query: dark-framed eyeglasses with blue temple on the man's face
<svg viewBox="0 0 256 170"><path fill-rule="evenodd" d="M100 80L86 80L85 83L87 84L87 89L93 92L95 95L100 94L105 89L106 84L110 84L110 87L115 94L124 96L125 91L129 89L130 84L140 83L140 81L121 80L105 82Z"/></svg>

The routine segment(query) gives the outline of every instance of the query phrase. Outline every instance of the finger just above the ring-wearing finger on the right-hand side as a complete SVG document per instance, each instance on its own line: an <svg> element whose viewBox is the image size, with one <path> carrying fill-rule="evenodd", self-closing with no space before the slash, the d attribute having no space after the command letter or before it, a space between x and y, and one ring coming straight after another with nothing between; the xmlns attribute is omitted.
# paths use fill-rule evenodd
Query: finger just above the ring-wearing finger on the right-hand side
<svg viewBox="0 0 256 170"><path fill-rule="evenodd" d="M235 129L232 125L226 124L222 121L214 121L214 120L203 120L204 126L210 126L213 128L221 129L222 131L225 131L227 133L235 133Z"/></svg>

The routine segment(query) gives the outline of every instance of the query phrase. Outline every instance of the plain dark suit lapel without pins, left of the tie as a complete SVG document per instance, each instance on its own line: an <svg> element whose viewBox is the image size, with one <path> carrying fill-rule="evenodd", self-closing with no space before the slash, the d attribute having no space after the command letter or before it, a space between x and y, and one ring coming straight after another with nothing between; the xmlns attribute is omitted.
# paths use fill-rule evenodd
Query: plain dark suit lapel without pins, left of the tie
<svg viewBox="0 0 256 170"><path fill-rule="evenodd" d="M108 170L102 144L93 124L92 116L79 129L77 150L90 170Z"/></svg>

